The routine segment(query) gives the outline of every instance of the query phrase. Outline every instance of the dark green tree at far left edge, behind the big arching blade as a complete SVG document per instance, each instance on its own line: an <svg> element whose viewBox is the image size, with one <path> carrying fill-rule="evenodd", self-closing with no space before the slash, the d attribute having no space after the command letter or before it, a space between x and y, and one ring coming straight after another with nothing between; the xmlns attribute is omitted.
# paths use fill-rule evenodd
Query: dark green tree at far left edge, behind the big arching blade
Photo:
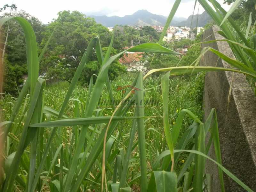
<svg viewBox="0 0 256 192"><path fill-rule="evenodd" d="M44 25L42 22L23 10L17 11L17 6L15 4L6 4L0 10L3 11L7 9L9 9L9 12L5 12L2 17L17 16L25 18L36 32L36 40L37 43L40 44L43 38L41 33L44 31ZM20 88L20 86L23 84L23 78L20 78L20 76L22 77L27 74L25 38L20 25L15 21L7 22L7 24L3 27L3 33L5 36L3 58L1 58L5 65L3 91L17 95L15 81L17 86ZM15 71L18 77L12 78L13 76L16 76L12 74L13 71Z"/></svg>

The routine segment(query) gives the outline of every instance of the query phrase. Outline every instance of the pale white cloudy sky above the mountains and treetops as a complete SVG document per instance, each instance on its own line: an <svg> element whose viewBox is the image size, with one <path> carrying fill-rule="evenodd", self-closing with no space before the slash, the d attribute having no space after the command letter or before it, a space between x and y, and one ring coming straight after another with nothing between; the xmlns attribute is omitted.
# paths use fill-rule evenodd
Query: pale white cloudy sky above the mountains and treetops
<svg viewBox="0 0 256 192"><path fill-rule="evenodd" d="M77 10L86 15L117 15L122 17L146 9L154 14L168 16L174 0L157 0L155 2L149 0L1 0L0 7L3 7L4 4L16 4L18 10L22 9L28 12L44 24L57 18L57 13L63 10ZM223 4L223 0L218 0L218 2ZM188 18L189 15L193 14L194 3L195 0L181 0L175 16ZM226 10L230 7L227 4L223 6ZM197 7L195 12L197 12ZM199 5L199 13L202 12L204 9Z"/></svg>

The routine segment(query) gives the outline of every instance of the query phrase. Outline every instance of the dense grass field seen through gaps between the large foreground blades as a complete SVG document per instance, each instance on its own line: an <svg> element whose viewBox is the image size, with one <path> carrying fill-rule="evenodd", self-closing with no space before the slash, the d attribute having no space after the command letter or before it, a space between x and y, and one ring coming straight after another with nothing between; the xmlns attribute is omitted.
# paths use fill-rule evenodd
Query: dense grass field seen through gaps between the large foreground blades
<svg viewBox="0 0 256 192"><path fill-rule="evenodd" d="M122 90L117 90L117 86L126 86L127 84L132 84L132 79L136 76L136 74L127 74L125 76L120 76L112 82L112 90L113 96L116 101L122 99L123 93ZM202 94L203 94L203 79L204 74L194 75L194 76L177 76L172 77L170 79L170 98L169 98L169 118L171 119L171 124L175 124L175 120L181 109L187 108L191 110L193 113L197 114L198 118L202 119ZM146 139L146 150L147 150L147 170L148 172L152 170L152 166L156 161L156 157L166 149L166 138L164 137L164 127L162 121L163 114L163 104L162 104L162 96L161 96L161 77L150 77L145 80L144 88L145 88L145 101L146 100L155 100L152 103L149 103L145 106L145 139ZM116 91L115 91L116 90ZM56 84L48 85L45 89L45 98L44 103L45 106L48 106L56 111L60 111L61 103L63 102L63 96L68 91L68 82L59 82ZM80 117L82 113L84 113L86 102L88 98L88 87L76 87L74 93L71 96L71 99L68 102L67 110L65 114L68 117ZM27 100L29 100L29 95L27 96ZM22 130L22 126L24 124L24 118L26 116L26 108L28 107L27 100L24 100L22 103L23 108L19 111L19 115L17 116L17 127L13 129L9 133L10 138L9 146L6 151L6 155L12 154L15 152L17 148L17 140L13 140L15 136L19 136ZM93 116L111 116L113 113L114 107L104 106L102 103L103 100L108 100L108 91L107 87L103 88L103 92L101 95L101 101L99 101L99 106L94 110ZM6 95L4 100L1 100L1 108L4 111L4 118L8 118L12 112L12 108L14 103L16 102L16 98L13 98L11 95ZM24 110L25 109L25 110ZM46 112L46 110L45 110ZM133 116L134 109L130 109L128 111L128 116ZM55 114L56 116L56 114ZM54 118L52 113L45 113L46 120L50 120ZM184 123L181 128L180 135L182 135L192 123L191 119L186 117L184 119ZM95 145L99 133L102 129L105 129L107 126L106 123L95 125L89 127L89 132L87 133L87 140L91 140L90 148ZM120 150L126 151L127 145L129 143L130 129L132 127L132 120L125 120L120 122L117 130L112 134L113 138L111 140L111 147L108 149L108 153L112 154L113 151ZM59 180L60 177L60 169L58 159L52 161L54 159L55 151L59 147L60 143L58 143L58 138L63 140L63 156L64 162L63 167L67 169L69 167L69 160L73 154L73 150L76 147L74 142L74 132L72 131L72 126L68 126L60 129L55 135L55 139L49 156L47 157L48 161L45 166L45 170L49 170L51 168L51 164L53 164L51 171L41 175L41 180L47 180L46 185L43 187L43 191L55 191L54 180ZM43 148L46 147L46 143L48 138L50 137L50 132L52 128L47 128L44 131L43 135ZM13 138L14 137L14 138ZM11 139L13 138L13 139ZM139 148L138 145L138 134L135 133L135 139L133 141L133 152L130 156L129 160L129 171L127 175L127 180L130 182L131 187L134 191L139 190L139 180L136 179L140 175L140 160L139 160ZM188 147L186 149L191 148L194 144L193 138L189 140ZM90 149L89 149L90 150ZM29 156L30 147L26 148L24 157ZM124 153L124 152L123 152ZM82 157L83 153L81 153L80 157ZM184 161L186 160L187 154L183 154L180 156L178 160L178 166L176 168L176 172L179 173L180 168L182 167ZM27 159L28 160L28 159ZM88 179L93 180L94 182L88 184L87 188L95 189L95 191L100 190L100 167L101 162L100 159L97 159L97 164L93 166ZM27 161L28 163L28 161ZM107 179L113 179L113 164L115 164L115 160L109 163L110 172L107 174ZM24 162L25 165L25 162ZM29 166L29 164L27 165ZM24 171L24 177L27 177L27 173ZM118 171L117 171L118 172ZM117 181L119 180L119 172L117 173ZM47 176L47 178L46 178ZM22 191L22 186L19 183L16 184L15 188L19 191Z"/></svg>

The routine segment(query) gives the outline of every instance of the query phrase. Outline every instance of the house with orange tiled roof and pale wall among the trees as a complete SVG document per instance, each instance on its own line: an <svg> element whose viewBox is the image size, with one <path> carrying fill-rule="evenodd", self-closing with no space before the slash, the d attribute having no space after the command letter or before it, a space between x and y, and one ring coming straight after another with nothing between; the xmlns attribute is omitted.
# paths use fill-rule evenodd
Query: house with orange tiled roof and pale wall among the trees
<svg viewBox="0 0 256 192"><path fill-rule="evenodd" d="M143 52L126 52L119 62L127 67L127 71L146 71L145 62L141 61Z"/></svg>

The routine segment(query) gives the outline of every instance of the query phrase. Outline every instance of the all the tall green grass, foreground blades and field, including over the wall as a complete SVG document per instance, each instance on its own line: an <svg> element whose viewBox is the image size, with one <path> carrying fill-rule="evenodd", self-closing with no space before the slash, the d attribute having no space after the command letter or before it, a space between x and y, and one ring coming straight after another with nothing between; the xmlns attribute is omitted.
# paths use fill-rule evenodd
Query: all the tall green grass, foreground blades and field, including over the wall
<svg viewBox="0 0 256 192"><path fill-rule="evenodd" d="M220 34L231 44L237 60L212 48L202 50L200 57L212 51L238 69L199 67L199 57L190 66L153 68L145 75L139 72L109 80L109 66L127 51L180 55L162 46L180 4L176 0L158 43L139 44L110 57L115 32L105 55L95 36L84 48L72 81L48 87L39 77L39 63L52 35L38 56L35 32L28 21L1 18L0 28L15 20L24 31L28 80L17 99L6 95L1 101L5 121L1 123L4 167L0 191L211 191L211 177L204 169L207 158L218 165L221 191L225 191L225 172L252 192L221 165L215 109L202 121L203 75L199 72L233 71L255 79L256 43L253 48L247 40L250 28L244 36L228 17L239 0L229 12L215 0L211 4L217 12L205 0L198 1L221 26ZM236 38L244 44L235 42ZM78 80L92 54L100 64L99 73L91 76L88 86L80 86ZM150 100L157 102L150 104ZM208 133L210 140L205 143ZM207 156L211 145L216 161Z"/></svg>

